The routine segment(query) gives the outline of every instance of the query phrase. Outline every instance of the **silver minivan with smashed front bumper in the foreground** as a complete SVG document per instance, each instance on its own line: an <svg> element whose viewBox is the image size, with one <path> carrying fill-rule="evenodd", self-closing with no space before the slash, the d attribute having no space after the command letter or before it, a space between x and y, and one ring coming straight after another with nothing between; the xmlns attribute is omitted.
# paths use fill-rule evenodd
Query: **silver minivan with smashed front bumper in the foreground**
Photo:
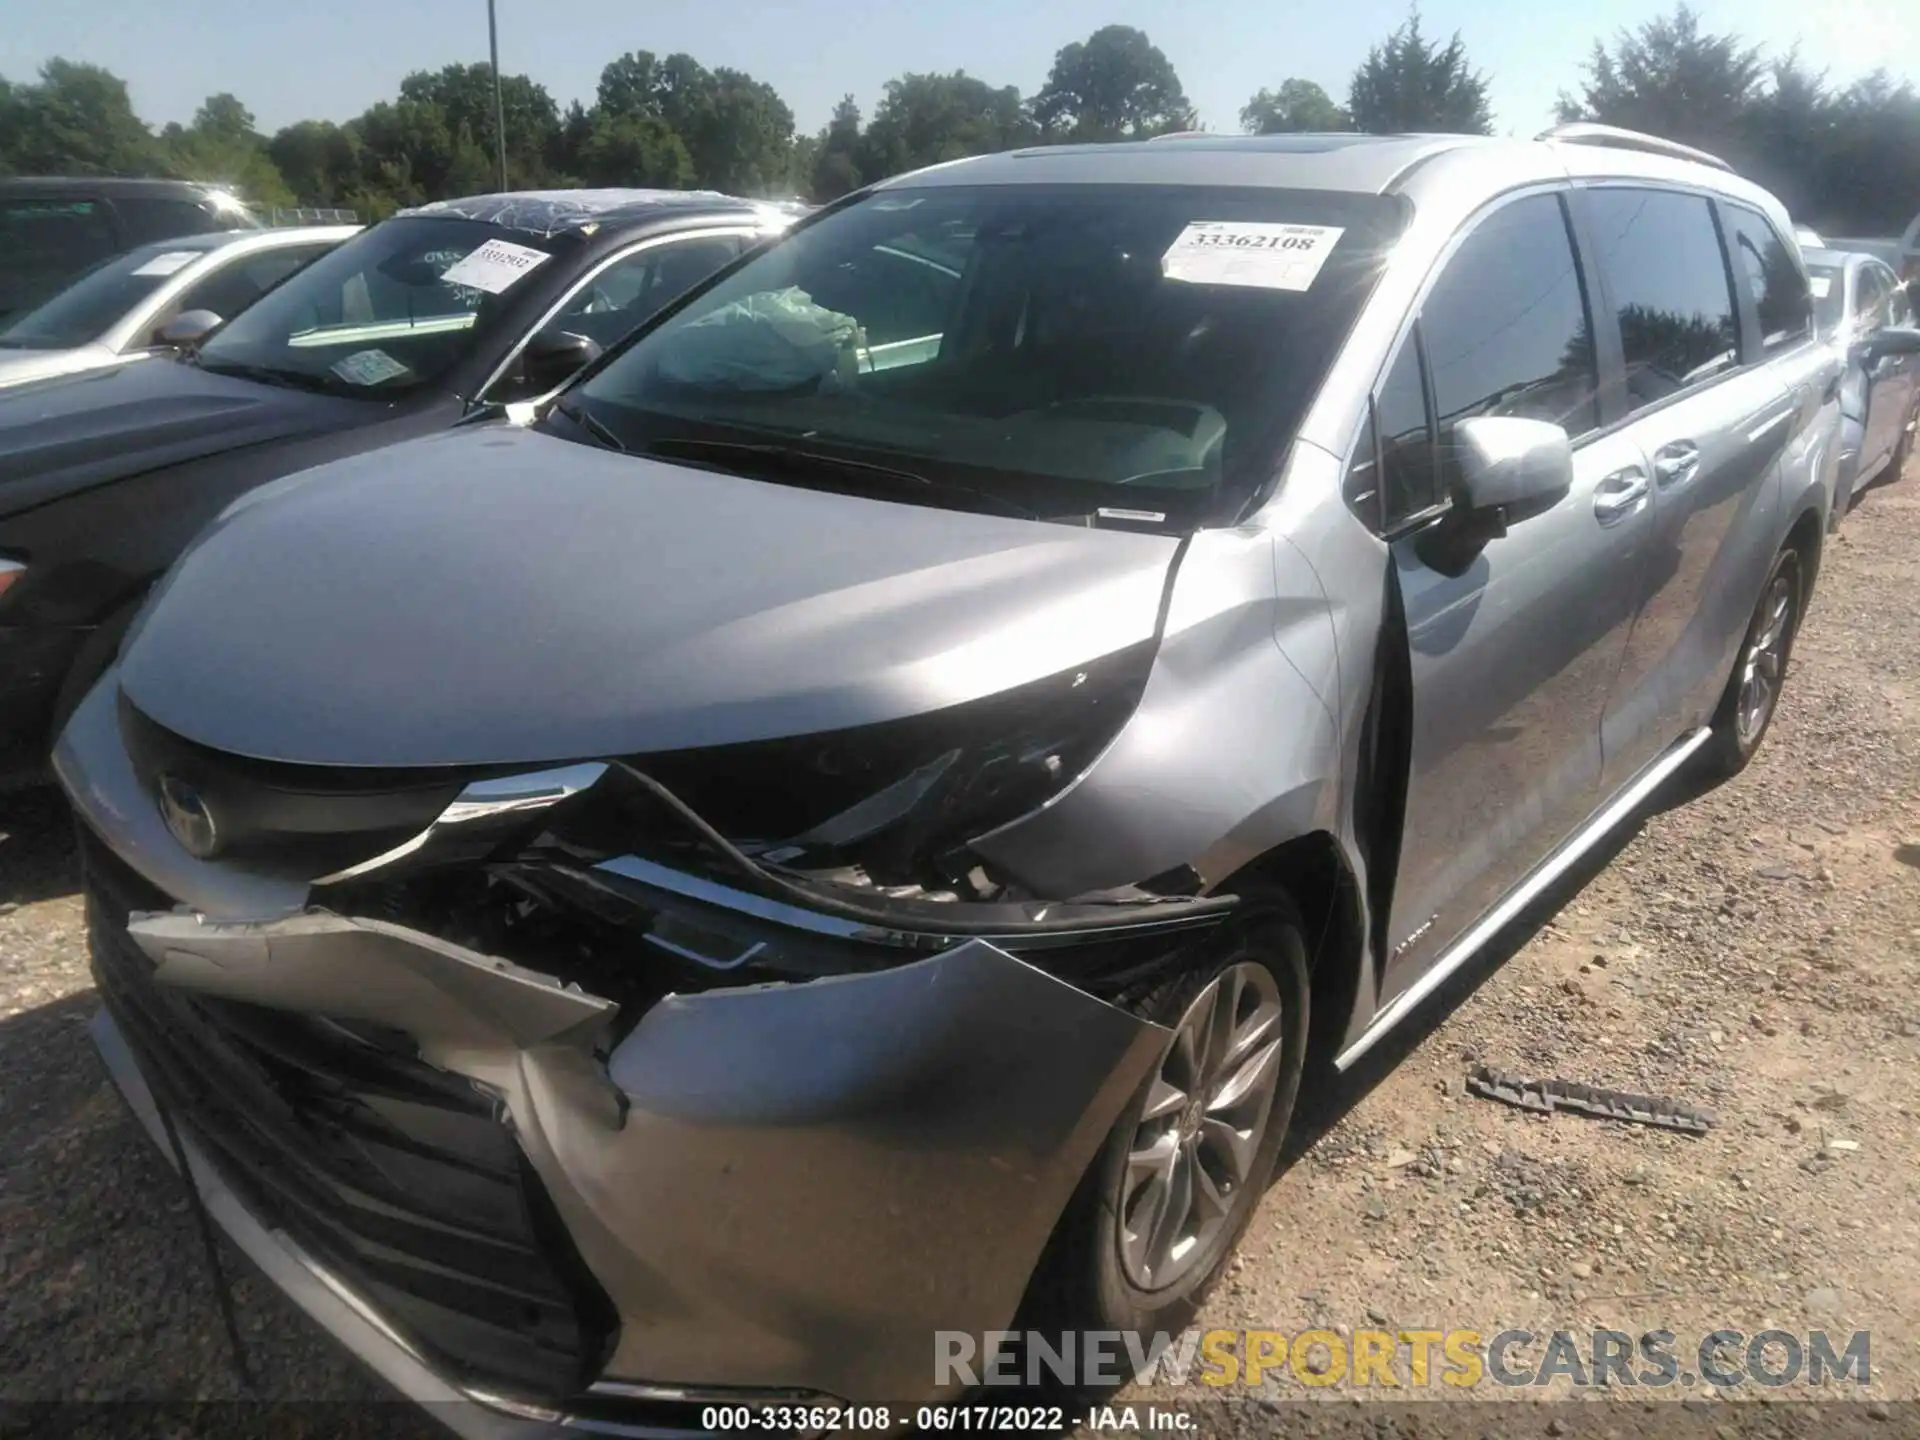
<svg viewBox="0 0 1920 1440"><path fill-rule="evenodd" d="M182 557L56 758L102 1054L476 1434L1177 1331L1309 1056L1753 755L1837 372L1644 136L887 180Z"/></svg>

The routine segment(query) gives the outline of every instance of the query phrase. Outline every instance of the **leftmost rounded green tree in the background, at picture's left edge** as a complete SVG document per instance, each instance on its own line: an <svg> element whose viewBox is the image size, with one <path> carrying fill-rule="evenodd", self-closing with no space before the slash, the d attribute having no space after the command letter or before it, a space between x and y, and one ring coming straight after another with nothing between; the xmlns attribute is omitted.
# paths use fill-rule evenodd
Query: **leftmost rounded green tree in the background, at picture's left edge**
<svg viewBox="0 0 1920 1440"><path fill-rule="evenodd" d="M21 175L159 175L165 156L132 113L127 81L48 60L36 84L8 88L0 159Z"/></svg>

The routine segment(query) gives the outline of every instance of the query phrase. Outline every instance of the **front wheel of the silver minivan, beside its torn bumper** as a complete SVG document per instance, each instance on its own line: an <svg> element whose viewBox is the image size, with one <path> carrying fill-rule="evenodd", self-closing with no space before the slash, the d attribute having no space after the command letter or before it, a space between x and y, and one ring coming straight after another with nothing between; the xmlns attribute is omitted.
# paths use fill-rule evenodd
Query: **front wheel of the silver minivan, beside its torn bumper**
<svg viewBox="0 0 1920 1440"><path fill-rule="evenodd" d="M1233 1025L1225 1023L1229 1012L1219 1008L1223 998L1235 1006ZM1167 1025L1173 1037L1062 1215L1039 1290L1048 1319L1150 1338L1192 1319L1273 1177L1308 1048L1308 962L1298 914L1286 902L1263 906L1261 914L1233 925L1208 962L1158 985L1129 1008ZM1206 1025L1208 1014L1217 1029ZM1213 1044L1196 1054L1196 1041L1208 1035ZM1221 1039L1227 1043L1223 1066ZM1196 1062L1204 1089L1192 1087ZM1248 1077L1258 1077L1258 1087L1248 1089ZM1240 1089L1242 1094L1206 1104L1187 1098L1188 1089L1215 1096ZM1175 1092L1185 1104L1173 1100ZM1242 1131L1238 1140L1229 1139L1235 1129ZM1139 1164L1154 1150L1167 1154L1160 1177L1154 1165ZM1213 1194L1225 1200L1223 1208L1206 1206L1204 1192L1192 1185L1202 1171ZM1181 1204L1181 1173L1188 1177L1188 1210L1171 1223L1167 1206L1154 1202ZM1158 1229L1148 1223L1156 1215L1162 1217Z"/></svg>

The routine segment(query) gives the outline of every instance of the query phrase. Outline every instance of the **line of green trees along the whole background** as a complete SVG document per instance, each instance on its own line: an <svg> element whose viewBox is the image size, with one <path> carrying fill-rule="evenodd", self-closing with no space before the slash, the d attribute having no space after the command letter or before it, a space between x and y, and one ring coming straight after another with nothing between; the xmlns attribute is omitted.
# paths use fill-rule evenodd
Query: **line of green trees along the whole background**
<svg viewBox="0 0 1920 1440"><path fill-rule="evenodd" d="M38 79L0 77L0 175L177 175L225 180L261 205L348 205L380 217L497 188L492 69L417 71L346 123L255 129L232 94L190 125L154 131L127 84L98 65L52 60ZM561 108L526 75L501 77L511 188L701 186L833 200L920 165L1031 144L1137 140L1196 125L1167 56L1139 29L1106 25L1060 48L1031 96L966 71L906 73L864 115L849 94L818 134L766 81L685 54L634 50L601 71L591 104ZM1596 40L1559 119L1624 125L1711 150L1772 188L1793 213L1837 232L1903 228L1920 207L1920 94L1876 71L1834 86L1797 54L1766 56L1711 35L1686 6ZM1455 33L1419 12L1354 69L1344 104L1284 77L1240 109L1256 134L1450 131L1492 134L1488 77ZM1523 131L1528 127L1523 127Z"/></svg>

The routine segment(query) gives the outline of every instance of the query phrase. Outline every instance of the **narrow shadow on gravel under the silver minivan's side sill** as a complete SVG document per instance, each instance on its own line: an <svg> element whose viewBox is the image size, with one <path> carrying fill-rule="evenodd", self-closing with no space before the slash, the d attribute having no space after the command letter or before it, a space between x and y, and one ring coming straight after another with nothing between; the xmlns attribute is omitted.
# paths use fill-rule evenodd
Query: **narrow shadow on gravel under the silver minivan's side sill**
<svg viewBox="0 0 1920 1440"><path fill-rule="evenodd" d="M1382 1079L1386 1079L1402 1060L1427 1043L1427 1039L1452 1016L1480 983L1519 954L1540 927L1559 914L1599 872L1613 864L1647 820L1678 810L1699 799L1713 785L1701 781L1693 770L1684 770L1663 785L1634 816L1603 839L1588 856L1561 877L1546 895L1523 910L1500 935L1496 935L1480 954L1469 960L1452 979L1434 991L1427 1004L1415 1010L1402 1025L1373 1046L1350 1071L1338 1073L1331 1060L1323 1058L1308 1071L1300 1087L1300 1102L1294 1110L1286 1144L1281 1148L1281 1162L1275 1165L1275 1179L1292 1169L1321 1137Z"/></svg>

